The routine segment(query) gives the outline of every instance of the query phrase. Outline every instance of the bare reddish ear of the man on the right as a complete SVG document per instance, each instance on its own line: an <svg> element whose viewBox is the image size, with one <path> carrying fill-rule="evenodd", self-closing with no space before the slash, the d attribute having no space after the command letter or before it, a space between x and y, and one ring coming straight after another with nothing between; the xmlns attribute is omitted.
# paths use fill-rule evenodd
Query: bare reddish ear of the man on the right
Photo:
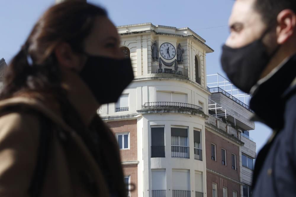
<svg viewBox="0 0 296 197"><path fill-rule="evenodd" d="M290 9L285 9L278 14L277 22L277 42L284 44L295 34L296 13Z"/></svg>

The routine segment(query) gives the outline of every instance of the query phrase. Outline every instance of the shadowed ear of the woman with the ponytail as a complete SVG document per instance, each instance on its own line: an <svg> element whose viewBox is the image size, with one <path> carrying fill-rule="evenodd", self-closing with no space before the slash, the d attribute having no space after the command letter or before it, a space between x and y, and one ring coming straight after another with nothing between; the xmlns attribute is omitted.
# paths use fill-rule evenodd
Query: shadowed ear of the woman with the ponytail
<svg viewBox="0 0 296 197"><path fill-rule="evenodd" d="M59 43L54 49L54 54L59 66L71 70L80 70L80 57L77 53L73 52L68 43Z"/></svg>

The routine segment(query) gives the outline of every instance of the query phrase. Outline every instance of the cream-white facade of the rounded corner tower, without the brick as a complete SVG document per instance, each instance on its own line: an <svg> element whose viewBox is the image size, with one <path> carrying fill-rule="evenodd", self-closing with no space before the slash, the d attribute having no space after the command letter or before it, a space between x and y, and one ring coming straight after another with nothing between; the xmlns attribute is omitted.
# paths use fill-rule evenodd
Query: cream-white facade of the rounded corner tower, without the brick
<svg viewBox="0 0 296 197"><path fill-rule="evenodd" d="M137 119L138 196L153 196L155 190L166 190L166 196L178 195L179 191L191 196L198 191L206 196L205 120L210 93L206 89L205 56L213 50L189 28L145 23L120 26L118 33L121 47L130 51L135 79L124 90L122 100L103 105L99 113L105 121ZM177 48L181 43L184 61L178 69L182 72L154 73L152 68L159 68L159 59L157 62L152 59L151 46L155 41L158 48L163 43ZM176 56L164 61L170 63L175 59ZM173 67L170 70L176 69ZM163 128L165 157L152 157L153 127ZM180 137L183 144L176 146L177 152L174 152L175 144L172 146L171 128L188 131L187 136ZM200 131L199 149L194 149L194 131ZM197 155L197 151L202 154Z"/></svg>

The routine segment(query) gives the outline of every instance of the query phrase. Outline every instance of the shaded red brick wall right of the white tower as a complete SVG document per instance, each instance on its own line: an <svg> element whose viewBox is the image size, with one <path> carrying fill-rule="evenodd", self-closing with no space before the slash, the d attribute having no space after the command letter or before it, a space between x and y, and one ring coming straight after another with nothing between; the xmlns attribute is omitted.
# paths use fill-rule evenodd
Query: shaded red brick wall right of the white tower
<svg viewBox="0 0 296 197"><path fill-rule="evenodd" d="M216 145L216 161L212 160L211 157L211 143ZM227 187L228 196L232 196L232 191L237 191L237 196L240 196L239 184L232 181L239 182L239 146L230 139L226 140L220 137L218 133L215 134L215 131L210 132L207 129L205 129L205 146L207 169L225 176L207 171L207 196L213 196L213 183L217 183L218 196L223 196L223 187ZM221 149L226 150L226 166L222 165ZM236 155L237 170L231 167L231 153Z"/></svg>

